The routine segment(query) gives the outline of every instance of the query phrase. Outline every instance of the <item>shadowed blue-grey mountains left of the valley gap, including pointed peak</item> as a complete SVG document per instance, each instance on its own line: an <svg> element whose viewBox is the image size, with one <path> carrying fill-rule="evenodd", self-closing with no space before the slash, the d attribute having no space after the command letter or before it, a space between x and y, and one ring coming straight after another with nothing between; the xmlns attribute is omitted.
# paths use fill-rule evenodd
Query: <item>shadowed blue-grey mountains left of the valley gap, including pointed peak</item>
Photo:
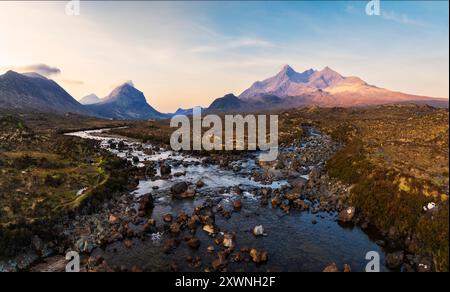
<svg viewBox="0 0 450 292"><path fill-rule="evenodd" d="M78 102L55 81L37 73L8 71L0 76L0 109L75 113L108 119L146 120L167 117L147 103L144 94L130 83L100 99L91 94Z"/></svg>

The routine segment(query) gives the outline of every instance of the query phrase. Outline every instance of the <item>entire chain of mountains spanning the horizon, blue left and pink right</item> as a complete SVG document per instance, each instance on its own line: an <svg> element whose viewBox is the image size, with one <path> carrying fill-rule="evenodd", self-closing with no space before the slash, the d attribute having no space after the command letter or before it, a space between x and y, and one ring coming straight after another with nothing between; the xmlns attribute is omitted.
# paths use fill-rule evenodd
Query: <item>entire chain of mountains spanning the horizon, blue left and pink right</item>
<svg viewBox="0 0 450 292"><path fill-rule="evenodd" d="M358 77L346 77L329 67L297 72L289 65L273 77L257 81L239 96L215 99L206 112L255 112L301 106L352 107L389 103L449 106L448 99L411 95L370 85ZM0 109L76 113L109 119L146 120L170 117L148 104L130 82L108 96L90 94L78 102L55 81L37 73L8 71L0 76ZM178 109L175 114L190 114ZM173 114L172 114L173 115Z"/></svg>

